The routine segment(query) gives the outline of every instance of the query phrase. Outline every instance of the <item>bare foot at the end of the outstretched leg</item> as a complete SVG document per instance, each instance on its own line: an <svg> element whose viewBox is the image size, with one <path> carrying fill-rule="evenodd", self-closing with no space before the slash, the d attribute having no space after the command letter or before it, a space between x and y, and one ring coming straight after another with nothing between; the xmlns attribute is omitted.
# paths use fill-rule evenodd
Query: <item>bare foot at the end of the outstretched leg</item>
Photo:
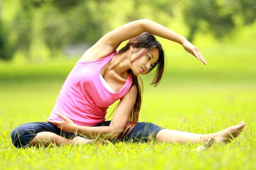
<svg viewBox="0 0 256 170"><path fill-rule="evenodd" d="M219 142L228 143L228 142L230 142L229 139L235 139L236 137L238 137L238 135L240 134L240 132L242 132L244 127L245 127L245 122L240 121L239 124L237 124L236 126L231 126L231 127L226 128L224 130L221 130L220 132L217 132L216 137L215 137L215 142L216 143L219 143Z"/></svg>

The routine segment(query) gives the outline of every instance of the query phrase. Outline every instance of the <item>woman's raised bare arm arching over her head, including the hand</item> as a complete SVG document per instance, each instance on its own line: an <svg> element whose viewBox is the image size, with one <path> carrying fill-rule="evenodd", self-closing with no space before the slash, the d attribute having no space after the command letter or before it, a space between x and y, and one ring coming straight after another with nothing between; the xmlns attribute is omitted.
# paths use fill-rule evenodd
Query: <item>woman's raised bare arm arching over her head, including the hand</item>
<svg viewBox="0 0 256 170"><path fill-rule="evenodd" d="M115 49L117 49L122 42L129 40L130 38L133 38L143 32L148 32L167 40L177 42L181 44L187 52L194 55L204 64L207 64L198 48L186 40L186 38L175 33L171 29L162 26L161 24L148 19L136 20L110 31L84 53L83 59L95 60L105 57L115 51Z"/></svg>

